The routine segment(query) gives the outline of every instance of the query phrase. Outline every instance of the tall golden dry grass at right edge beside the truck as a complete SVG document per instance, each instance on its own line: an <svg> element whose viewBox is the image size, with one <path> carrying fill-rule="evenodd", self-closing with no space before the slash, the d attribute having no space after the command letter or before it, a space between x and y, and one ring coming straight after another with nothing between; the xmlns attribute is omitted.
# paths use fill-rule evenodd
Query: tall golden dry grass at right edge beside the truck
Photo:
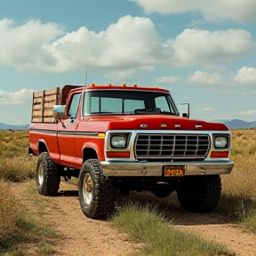
<svg viewBox="0 0 256 256"><path fill-rule="evenodd" d="M230 158L235 167L223 175L218 209L256 232L256 129L234 130Z"/></svg>

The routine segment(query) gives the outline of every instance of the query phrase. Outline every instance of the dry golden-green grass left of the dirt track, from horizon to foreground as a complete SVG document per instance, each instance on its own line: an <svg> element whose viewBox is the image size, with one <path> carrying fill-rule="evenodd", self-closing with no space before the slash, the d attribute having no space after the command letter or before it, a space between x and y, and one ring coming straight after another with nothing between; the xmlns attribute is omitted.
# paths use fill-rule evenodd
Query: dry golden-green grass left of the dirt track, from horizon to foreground
<svg viewBox="0 0 256 256"><path fill-rule="evenodd" d="M28 255L31 244L36 244L33 250L38 256L53 254L52 230L12 195L10 181L35 177L36 157L28 156L27 147L28 131L0 132L0 255Z"/></svg>

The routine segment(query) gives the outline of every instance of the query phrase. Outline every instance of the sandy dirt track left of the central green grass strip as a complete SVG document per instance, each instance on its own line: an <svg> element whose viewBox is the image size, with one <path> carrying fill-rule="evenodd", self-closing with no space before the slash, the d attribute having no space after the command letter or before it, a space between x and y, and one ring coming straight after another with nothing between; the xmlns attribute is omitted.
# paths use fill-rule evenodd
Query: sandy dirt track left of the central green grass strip
<svg viewBox="0 0 256 256"><path fill-rule="evenodd" d="M12 184L13 194L29 211L35 212L38 205L26 199L26 190L35 186L35 181ZM53 249L56 256L125 256L136 250L124 233L111 228L108 221L92 220L84 216L80 209L77 188L60 182L58 196L33 195L42 202L44 218L57 233ZM47 206L47 204L49 206ZM39 209L37 209L38 211ZM37 254L33 254L37 255Z"/></svg>

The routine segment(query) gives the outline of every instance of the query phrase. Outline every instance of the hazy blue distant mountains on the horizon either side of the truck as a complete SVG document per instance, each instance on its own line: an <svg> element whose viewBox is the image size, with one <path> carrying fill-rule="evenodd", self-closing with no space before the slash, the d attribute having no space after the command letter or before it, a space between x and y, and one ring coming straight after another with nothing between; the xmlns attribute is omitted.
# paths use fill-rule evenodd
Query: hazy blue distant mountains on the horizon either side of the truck
<svg viewBox="0 0 256 256"><path fill-rule="evenodd" d="M245 129L245 128L256 128L256 121L245 122L240 119L233 120L214 120L215 123L223 123L228 126L228 129ZM24 125L13 125L0 123L0 130L28 130L29 124Z"/></svg>

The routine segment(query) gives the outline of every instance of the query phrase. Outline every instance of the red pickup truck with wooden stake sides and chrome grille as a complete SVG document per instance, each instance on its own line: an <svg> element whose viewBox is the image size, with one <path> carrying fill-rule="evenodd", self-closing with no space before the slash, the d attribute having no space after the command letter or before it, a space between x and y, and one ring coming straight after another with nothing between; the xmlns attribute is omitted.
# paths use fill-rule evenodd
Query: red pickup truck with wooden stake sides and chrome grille
<svg viewBox="0 0 256 256"><path fill-rule="evenodd" d="M39 155L37 190L52 196L60 177L78 178L82 211L92 219L111 214L116 196L142 190L159 197L176 191L185 210L212 211L220 174L234 165L230 132L188 117L160 88L92 84L34 92L28 153Z"/></svg>

